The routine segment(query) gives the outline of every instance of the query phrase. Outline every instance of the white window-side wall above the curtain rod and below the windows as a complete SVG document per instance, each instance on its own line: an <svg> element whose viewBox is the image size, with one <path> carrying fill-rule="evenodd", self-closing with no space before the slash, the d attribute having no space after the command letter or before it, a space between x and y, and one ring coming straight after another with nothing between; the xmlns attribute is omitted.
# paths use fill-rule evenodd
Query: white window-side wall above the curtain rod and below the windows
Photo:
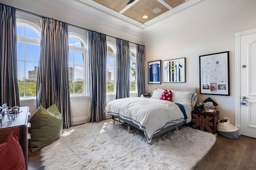
<svg viewBox="0 0 256 170"><path fill-rule="evenodd" d="M0 3L144 45L143 30L141 28L86 6L78 0L0 0ZM28 16L28 14L18 13L19 17L24 19ZM34 18L39 25L38 17ZM77 29L69 27L69 30L74 31ZM79 33L86 38L86 32L81 31ZM131 96L133 97L133 94ZM73 125L87 122L90 98L88 96L70 98ZM108 102L114 99L115 95L107 97ZM20 104L21 106L29 106L32 114L37 109L36 99L21 100Z"/></svg>

